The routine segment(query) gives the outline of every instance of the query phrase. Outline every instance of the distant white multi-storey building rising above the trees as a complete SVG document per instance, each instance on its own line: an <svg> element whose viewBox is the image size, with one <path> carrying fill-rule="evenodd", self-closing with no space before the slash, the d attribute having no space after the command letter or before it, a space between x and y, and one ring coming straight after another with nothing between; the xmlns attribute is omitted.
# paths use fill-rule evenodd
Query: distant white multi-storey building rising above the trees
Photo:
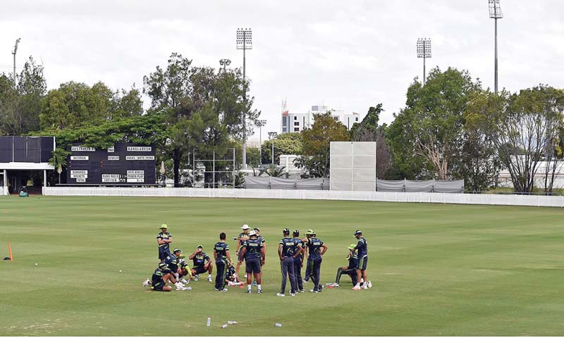
<svg viewBox="0 0 564 338"><path fill-rule="evenodd" d="M290 113L286 109L286 104L282 108L282 134L286 132L301 132L304 128L313 124L313 117L315 114L331 112L331 116L336 121L339 121L350 130L355 123L360 123L360 116L358 113L345 113L342 110L331 109L327 106L317 105L312 106L312 109L307 113Z"/></svg>

